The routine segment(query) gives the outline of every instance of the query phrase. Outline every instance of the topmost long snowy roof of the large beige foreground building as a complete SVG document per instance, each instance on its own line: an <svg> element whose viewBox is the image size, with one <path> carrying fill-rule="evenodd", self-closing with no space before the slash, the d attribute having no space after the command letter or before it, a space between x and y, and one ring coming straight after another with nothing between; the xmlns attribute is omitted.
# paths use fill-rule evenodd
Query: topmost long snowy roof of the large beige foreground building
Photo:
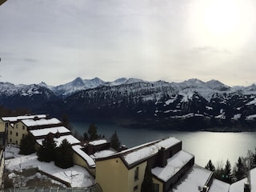
<svg viewBox="0 0 256 192"><path fill-rule="evenodd" d="M124 150L122 151L122 156L124 161L126 161L128 165L131 165L135 162L140 162L143 159L149 158L154 154L157 154L158 150L160 150L161 148L168 149L171 146L177 144L178 142L181 141L174 137L164 138L156 142L150 142L142 146L137 146L129 150Z"/></svg>

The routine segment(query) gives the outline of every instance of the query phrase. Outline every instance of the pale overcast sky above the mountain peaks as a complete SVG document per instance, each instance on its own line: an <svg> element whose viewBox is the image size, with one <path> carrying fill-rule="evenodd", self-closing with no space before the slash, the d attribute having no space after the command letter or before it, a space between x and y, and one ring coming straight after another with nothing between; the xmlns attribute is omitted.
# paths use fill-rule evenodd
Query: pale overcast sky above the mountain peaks
<svg viewBox="0 0 256 192"><path fill-rule="evenodd" d="M8 0L1 82L256 82L254 0Z"/></svg>

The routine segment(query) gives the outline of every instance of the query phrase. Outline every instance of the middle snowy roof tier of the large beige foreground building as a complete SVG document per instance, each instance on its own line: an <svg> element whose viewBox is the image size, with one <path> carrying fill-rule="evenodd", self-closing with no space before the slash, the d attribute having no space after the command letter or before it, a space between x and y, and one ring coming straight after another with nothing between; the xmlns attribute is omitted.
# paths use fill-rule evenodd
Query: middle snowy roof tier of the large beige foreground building
<svg viewBox="0 0 256 192"><path fill-rule="evenodd" d="M192 158L194 158L194 155L180 150L177 154L174 154L172 158L167 159L167 165L165 167L157 166L152 169L152 174L166 182L172 178L174 174L177 174Z"/></svg>

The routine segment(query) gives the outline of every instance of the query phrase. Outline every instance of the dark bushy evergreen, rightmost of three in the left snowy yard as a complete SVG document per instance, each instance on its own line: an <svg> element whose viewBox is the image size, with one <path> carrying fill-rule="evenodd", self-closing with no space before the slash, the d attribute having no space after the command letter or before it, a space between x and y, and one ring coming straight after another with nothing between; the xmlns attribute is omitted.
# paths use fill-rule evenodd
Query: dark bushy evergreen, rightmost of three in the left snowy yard
<svg viewBox="0 0 256 192"><path fill-rule="evenodd" d="M56 149L55 165L63 169L74 166L73 150L70 142L64 139L60 146Z"/></svg>

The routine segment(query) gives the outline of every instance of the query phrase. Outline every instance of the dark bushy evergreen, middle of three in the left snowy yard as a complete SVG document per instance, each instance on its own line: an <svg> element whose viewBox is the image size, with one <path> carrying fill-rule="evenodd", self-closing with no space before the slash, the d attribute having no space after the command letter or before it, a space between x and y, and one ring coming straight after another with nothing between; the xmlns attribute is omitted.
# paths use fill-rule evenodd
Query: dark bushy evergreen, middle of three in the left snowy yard
<svg viewBox="0 0 256 192"><path fill-rule="evenodd" d="M52 134L48 134L38 149L38 160L41 162L51 162L55 160L56 142Z"/></svg>

